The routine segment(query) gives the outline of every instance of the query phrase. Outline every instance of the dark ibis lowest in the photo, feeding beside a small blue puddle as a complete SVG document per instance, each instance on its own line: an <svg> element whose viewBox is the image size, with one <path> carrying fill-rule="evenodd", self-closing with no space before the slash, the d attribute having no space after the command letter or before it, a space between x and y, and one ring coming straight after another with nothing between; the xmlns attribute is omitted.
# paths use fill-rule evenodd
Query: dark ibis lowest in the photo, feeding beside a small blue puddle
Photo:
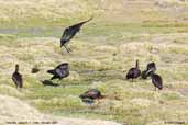
<svg viewBox="0 0 188 125"><path fill-rule="evenodd" d="M97 89L90 89L84 94L79 95L79 98L82 100L82 102L92 104L95 100L103 99L104 95L102 95L101 92Z"/></svg>

